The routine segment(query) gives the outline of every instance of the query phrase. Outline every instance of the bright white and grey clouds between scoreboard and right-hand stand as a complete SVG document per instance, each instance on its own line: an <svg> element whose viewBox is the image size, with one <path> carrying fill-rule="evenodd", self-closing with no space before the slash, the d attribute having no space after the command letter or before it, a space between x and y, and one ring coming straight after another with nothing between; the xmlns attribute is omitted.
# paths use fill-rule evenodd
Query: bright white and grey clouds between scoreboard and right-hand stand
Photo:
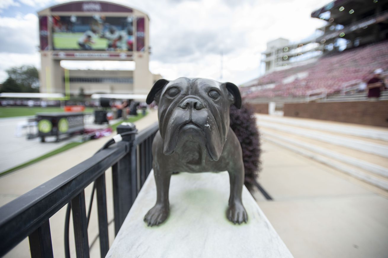
<svg viewBox="0 0 388 258"><path fill-rule="evenodd" d="M230 6L218 1L190 1L164 12L151 9L151 71L168 78L206 74L219 79L219 54L223 50L223 80L244 83L259 76L260 53L267 41L279 37L298 41L322 26L324 22L310 14L325 3L248 1Z"/></svg>

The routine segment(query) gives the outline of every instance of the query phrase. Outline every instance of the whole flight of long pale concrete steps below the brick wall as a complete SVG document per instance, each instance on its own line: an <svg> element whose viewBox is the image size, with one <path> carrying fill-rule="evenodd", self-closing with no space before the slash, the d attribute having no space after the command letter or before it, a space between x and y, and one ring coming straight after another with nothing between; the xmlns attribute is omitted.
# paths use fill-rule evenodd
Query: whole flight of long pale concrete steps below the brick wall
<svg viewBox="0 0 388 258"><path fill-rule="evenodd" d="M256 115L263 139L388 191L388 129Z"/></svg>

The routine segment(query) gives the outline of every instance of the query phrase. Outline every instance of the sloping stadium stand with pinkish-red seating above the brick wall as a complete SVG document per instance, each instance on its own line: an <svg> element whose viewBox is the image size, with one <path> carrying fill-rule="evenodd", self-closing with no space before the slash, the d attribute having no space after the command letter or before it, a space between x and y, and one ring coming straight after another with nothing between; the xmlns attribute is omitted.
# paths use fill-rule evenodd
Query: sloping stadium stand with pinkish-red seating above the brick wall
<svg viewBox="0 0 388 258"><path fill-rule="evenodd" d="M248 101L276 96L304 98L309 91L320 89L327 95L335 95L347 83L365 81L377 68L388 70L388 41L331 53L311 64L271 72L251 81L248 87L242 85L240 91Z"/></svg>

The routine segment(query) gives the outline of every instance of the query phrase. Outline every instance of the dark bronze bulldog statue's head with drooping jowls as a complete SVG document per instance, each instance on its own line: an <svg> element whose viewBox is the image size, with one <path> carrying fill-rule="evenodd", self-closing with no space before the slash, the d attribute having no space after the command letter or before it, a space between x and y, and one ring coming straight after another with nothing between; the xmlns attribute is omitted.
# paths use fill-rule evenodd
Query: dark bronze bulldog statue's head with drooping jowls
<svg viewBox="0 0 388 258"><path fill-rule="evenodd" d="M147 96L158 104L163 153L171 155L187 140L200 143L210 160L217 161L229 132L229 108L241 108L241 95L233 83L180 77L159 79Z"/></svg>

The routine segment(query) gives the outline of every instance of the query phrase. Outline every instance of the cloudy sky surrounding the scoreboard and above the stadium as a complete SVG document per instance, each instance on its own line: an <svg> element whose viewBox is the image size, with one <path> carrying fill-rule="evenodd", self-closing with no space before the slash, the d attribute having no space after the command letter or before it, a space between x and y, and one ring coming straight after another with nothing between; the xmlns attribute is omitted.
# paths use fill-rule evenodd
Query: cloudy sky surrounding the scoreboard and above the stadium
<svg viewBox="0 0 388 258"><path fill-rule="evenodd" d="M0 0L0 82L6 69L40 68L36 12L64 0ZM269 40L308 38L324 21L310 14L329 0L115 0L151 19L150 70L166 79L181 76L241 84L260 75L261 52ZM77 61L66 68L126 69L123 62Z"/></svg>

